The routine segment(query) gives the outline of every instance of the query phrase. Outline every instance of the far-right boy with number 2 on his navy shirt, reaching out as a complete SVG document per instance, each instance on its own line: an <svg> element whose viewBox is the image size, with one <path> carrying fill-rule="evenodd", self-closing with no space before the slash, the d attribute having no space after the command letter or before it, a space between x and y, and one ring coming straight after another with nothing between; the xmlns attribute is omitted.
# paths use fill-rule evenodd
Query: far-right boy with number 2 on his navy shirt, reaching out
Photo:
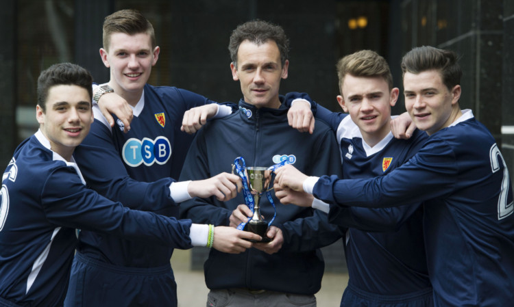
<svg viewBox="0 0 514 307"><path fill-rule="evenodd" d="M291 165L276 184L332 206L424 202L424 237L435 306L509 306L514 300L514 204L495 139L461 110L456 53L417 47L402 59L405 105L426 144L391 174L374 179L308 178Z"/></svg>

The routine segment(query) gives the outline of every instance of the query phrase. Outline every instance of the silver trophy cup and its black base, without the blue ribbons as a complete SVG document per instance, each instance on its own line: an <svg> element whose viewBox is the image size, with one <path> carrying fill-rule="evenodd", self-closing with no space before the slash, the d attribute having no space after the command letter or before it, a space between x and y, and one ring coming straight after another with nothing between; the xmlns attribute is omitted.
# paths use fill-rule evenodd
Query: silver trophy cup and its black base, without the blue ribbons
<svg viewBox="0 0 514 307"><path fill-rule="evenodd" d="M267 168L249 167L246 168L247 178L249 182L249 189L252 196L254 196L254 216L245 225L244 230L254 232L262 237L261 242L269 242L270 239L266 237L268 230L268 223L260 215L260 198L264 193L273 189L273 180L275 173Z"/></svg>

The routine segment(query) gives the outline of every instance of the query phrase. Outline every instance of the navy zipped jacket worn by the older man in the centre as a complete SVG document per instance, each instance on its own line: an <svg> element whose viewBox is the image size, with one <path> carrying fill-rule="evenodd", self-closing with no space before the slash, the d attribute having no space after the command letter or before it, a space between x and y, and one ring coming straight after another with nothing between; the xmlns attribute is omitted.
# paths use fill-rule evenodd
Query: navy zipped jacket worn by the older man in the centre
<svg viewBox="0 0 514 307"><path fill-rule="evenodd" d="M295 167L309 174L339 172L339 155L334 135L328 126L317 122L313 135L291 129L287 109L256 107L240 101L234 114L213 120L202 128L189 150L180 180L208 178L220 171L230 172L236 157L247 166L270 166L282 155L295 161ZM278 159L278 160L277 160ZM340 235L329 226L325 213L280 204L273 193L276 219L273 226L282 230L284 245L269 255L256 249L229 255L210 252L204 269L209 289L249 288L284 293L314 294L321 287L323 258L319 248ZM228 225L232 211L243 204L243 194L228 202L216 198L193 198L180 205L181 216L195 223ZM269 221L273 206L266 197L260 200L260 213Z"/></svg>

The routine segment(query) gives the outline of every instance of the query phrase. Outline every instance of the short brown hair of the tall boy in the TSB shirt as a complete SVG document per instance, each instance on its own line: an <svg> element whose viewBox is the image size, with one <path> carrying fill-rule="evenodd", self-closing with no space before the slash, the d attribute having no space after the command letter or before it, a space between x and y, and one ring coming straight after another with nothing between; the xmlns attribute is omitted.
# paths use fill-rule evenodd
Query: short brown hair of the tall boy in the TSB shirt
<svg viewBox="0 0 514 307"><path fill-rule="evenodd" d="M110 36L113 33L134 35L146 33L150 36L151 48L156 44L156 34L151 23L138 10L120 10L106 17L103 21L103 49L108 51Z"/></svg>

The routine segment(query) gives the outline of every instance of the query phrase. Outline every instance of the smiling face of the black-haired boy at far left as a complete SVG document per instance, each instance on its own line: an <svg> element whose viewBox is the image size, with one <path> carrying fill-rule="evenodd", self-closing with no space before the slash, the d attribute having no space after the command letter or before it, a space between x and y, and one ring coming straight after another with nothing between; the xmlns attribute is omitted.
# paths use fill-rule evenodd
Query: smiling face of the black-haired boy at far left
<svg viewBox="0 0 514 307"><path fill-rule="evenodd" d="M88 91L78 85L54 85L49 89L46 111L36 107L36 118L51 150L69 161L93 123Z"/></svg>

